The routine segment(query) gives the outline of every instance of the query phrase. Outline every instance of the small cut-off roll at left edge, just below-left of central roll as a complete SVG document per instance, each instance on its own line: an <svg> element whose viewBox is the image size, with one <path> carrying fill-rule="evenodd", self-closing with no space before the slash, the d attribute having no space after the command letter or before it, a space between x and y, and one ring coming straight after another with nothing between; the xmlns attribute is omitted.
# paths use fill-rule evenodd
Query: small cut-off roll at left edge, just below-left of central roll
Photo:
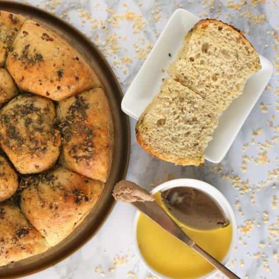
<svg viewBox="0 0 279 279"><path fill-rule="evenodd" d="M17 173L7 159L0 155L0 202L10 198L17 187Z"/></svg>

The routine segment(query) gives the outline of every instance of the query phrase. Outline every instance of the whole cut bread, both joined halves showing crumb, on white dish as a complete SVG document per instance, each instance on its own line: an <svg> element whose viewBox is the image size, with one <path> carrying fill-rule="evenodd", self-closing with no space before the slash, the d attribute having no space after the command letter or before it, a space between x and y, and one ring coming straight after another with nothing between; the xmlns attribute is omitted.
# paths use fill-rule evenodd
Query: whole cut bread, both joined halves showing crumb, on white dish
<svg viewBox="0 0 279 279"><path fill-rule="evenodd" d="M168 162L203 163L218 117L260 68L258 54L239 30L200 20L167 69L171 79L138 120L137 142Z"/></svg>

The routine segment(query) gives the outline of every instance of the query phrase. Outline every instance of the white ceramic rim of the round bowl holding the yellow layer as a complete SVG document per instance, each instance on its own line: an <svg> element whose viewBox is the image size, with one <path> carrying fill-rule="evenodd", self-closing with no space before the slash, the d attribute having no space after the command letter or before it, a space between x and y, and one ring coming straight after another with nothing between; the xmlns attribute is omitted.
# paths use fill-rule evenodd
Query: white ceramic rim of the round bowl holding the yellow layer
<svg viewBox="0 0 279 279"><path fill-rule="evenodd" d="M232 207L231 207L230 203L225 198L225 196L219 190L217 190L215 187L213 187L212 185L210 185L210 184L208 184L206 182L203 182L203 181L200 181L200 180L196 180L196 179L175 179L175 180L170 180L170 181L167 181L167 182L165 182L165 183L155 187L150 193L151 194L155 194L158 191L165 191L167 189L175 188L175 187L179 187L179 186L193 187L195 189L198 189L198 190L204 192L208 196L210 196L216 202L216 204L218 204L220 206L220 208L222 208L224 214L226 215L226 217L230 221L230 223L232 225L232 238L231 238L231 243L230 243L229 250L228 250L225 258L222 261L222 264L226 264L228 262L230 256L231 256L232 252L233 252L233 249L234 249L234 246L235 246L235 242L236 242L236 235L237 235L236 219L235 219L235 215L234 215L234 212L232 210ZM153 269L146 262L146 260L144 259L143 255L141 254L141 251L138 248L137 237L136 237L136 227L137 227L138 217L140 217L140 212L137 212L135 214L135 218L134 218L134 222L133 222L133 228L132 228L133 243L134 243L135 251L136 251L136 254L137 254L138 258L146 266L146 268L152 274L154 274L155 276L157 276L157 277L159 277L161 279L171 279L170 277L164 276L164 275L160 274L157 270ZM213 276L214 274L216 274L217 272L218 272L218 270L214 269L210 273L207 273L207 274L199 277L199 279L207 279L207 278Z"/></svg>

